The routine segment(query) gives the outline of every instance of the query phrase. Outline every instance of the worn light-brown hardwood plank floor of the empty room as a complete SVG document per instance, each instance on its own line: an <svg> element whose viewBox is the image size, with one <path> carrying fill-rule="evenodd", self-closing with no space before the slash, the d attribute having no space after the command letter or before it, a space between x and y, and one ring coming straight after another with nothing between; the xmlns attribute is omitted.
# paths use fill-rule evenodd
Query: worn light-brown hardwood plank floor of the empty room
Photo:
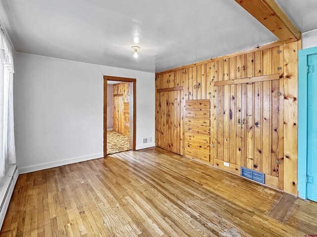
<svg viewBox="0 0 317 237"><path fill-rule="evenodd" d="M160 148L19 176L0 236L302 236L317 203Z"/></svg>

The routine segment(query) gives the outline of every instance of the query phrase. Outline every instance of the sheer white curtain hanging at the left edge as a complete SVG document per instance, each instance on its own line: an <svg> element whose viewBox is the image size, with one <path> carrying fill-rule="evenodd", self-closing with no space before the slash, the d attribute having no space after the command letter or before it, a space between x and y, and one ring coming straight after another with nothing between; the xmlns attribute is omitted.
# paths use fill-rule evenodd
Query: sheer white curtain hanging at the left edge
<svg viewBox="0 0 317 237"><path fill-rule="evenodd" d="M15 163L13 122L13 55L11 45L0 32L0 187L10 164Z"/></svg>

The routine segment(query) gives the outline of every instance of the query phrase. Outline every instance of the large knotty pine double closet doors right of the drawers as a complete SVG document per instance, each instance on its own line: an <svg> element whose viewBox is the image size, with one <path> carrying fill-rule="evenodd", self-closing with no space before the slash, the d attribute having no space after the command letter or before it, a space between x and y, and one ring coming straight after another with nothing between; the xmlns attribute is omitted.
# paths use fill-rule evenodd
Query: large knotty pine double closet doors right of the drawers
<svg viewBox="0 0 317 237"><path fill-rule="evenodd" d="M221 85L217 90L217 133L211 135L217 139L217 159L277 178L279 80Z"/></svg>

